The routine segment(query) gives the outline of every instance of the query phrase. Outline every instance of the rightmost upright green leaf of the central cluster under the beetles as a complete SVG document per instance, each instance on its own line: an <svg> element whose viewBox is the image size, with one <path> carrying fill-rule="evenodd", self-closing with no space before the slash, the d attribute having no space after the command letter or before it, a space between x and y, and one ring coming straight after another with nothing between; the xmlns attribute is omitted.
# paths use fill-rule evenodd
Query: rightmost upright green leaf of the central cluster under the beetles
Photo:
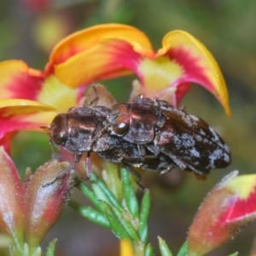
<svg viewBox="0 0 256 256"><path fill-rule="evenodd" d="M140 227L138 234L141 240L146 243L148 240L148 215L150 210L150 193L147 190L143 195L142 210L140 213Z"/></svg>

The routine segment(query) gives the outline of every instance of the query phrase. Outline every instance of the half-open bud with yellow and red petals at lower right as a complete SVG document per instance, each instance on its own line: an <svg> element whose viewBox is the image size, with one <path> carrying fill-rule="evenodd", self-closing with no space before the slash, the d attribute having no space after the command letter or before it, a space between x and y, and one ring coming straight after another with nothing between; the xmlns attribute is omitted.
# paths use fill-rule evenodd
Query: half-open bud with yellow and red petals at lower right
<svg viewBox="0 0 256 256"><path fill-rule="evenodd" d="M189 229L189 256L204 255L256 218L256 175L230 176L201 204Z"/></svg>

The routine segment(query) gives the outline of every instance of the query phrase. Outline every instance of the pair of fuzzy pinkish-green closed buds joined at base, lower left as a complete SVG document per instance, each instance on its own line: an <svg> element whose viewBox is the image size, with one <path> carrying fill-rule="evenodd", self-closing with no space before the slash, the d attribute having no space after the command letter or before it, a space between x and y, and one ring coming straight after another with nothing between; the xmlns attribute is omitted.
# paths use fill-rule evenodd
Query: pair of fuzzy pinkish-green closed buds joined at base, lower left
<svg viewBox="0 0 256 256"><path fill-rule="evenodd" d="M36 250L66 206L73 179L68 173L49 186L43 185L68 164L50 161L21 183L13 161L0 147L0 166L0 230L12 236L16 251L22 252L25 242Z"/></svg>

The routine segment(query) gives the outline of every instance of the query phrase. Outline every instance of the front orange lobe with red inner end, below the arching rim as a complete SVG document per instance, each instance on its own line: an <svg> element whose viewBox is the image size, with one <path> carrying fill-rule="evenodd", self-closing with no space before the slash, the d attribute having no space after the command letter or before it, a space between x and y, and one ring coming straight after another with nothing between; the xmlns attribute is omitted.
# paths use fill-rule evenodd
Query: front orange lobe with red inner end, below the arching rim
<svg viewBox="0 0 256 256"><path fill-rule="evenodd" d="M96 44L55 66L55 75L70 87L111 79L137 70L141 55L133 46L119 39L108 39Z"/></svg>

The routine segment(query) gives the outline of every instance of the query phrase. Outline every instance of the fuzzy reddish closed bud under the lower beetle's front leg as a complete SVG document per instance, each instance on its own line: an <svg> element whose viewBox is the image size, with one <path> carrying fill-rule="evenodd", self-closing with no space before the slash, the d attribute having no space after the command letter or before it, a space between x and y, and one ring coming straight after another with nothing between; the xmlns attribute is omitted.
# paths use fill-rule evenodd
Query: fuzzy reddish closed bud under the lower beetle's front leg
<svg viewBox="0 0 256 256"><path fill-rule="evenodd" d="M70 174L50 183L67 166L67 162L50 161L26 183L26 241L30 247L38 247L67 204L73 184Z"/></svg>

